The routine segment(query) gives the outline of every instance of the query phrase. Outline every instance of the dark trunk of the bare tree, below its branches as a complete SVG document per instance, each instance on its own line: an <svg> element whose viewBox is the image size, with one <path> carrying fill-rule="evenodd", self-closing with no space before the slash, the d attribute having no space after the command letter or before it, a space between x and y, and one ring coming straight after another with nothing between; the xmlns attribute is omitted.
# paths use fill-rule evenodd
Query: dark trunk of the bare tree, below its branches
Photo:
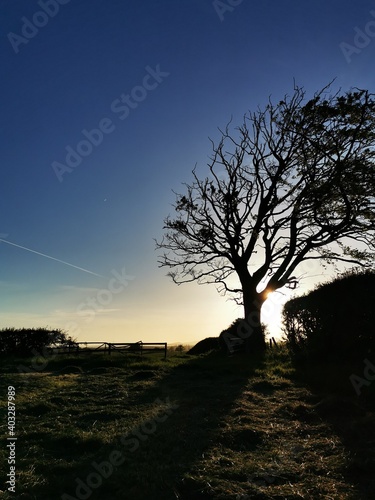
<svg viewBox="0 0 375 500"><path fill-rule="evenodd" d="M242 338L245 339L245 350L249 354L261 353L266 348L266 342L261 325L260 311L265 297L253 289L243 289L244 323Z"/></svg>

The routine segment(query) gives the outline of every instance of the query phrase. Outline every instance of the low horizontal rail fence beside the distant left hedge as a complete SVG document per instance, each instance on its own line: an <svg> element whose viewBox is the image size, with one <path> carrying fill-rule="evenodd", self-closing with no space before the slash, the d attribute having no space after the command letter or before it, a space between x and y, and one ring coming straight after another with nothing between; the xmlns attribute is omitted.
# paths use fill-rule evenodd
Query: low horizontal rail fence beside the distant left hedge
<svg viewBox="0 0 375 500"><path fill-rule="evenodd" d="M84 346L84 347L81 347ZM96 346L96 347L95 347ZM138 352L142 356L146 352L164 352L164 358L167 357L167 342L74 342L64 347L53 348L54 354L85 354L93 352L105 352L109 355L112 352L121 354Z"/></svg>

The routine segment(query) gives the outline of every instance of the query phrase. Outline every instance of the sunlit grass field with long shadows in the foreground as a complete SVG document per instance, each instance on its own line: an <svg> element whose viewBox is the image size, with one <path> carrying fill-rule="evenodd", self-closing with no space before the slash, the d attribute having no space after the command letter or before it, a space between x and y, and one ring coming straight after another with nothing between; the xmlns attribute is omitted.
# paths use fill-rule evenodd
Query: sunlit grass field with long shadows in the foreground
<svg viewBox="0 0 375 500"><path fill-rule="evenodd" d="M283 348L262 361L98 354L32 373L19 363L1 368L2 499L375 498L372 409L353 391L311 389Z"/></svg>

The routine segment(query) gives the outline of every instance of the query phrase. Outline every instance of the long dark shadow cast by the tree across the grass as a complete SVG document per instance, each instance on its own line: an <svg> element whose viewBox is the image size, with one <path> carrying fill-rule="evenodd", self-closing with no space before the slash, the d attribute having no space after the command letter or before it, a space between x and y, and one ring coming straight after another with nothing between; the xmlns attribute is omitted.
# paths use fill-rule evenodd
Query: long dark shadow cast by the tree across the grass
<svg viewBox="0 0 375 500"><path fill-rule="evenodd" d="M213 498L210 485L189 477L189 473L223 435L225 417L249 377L261 366L261 360L243 355L228 358L213 352L156 378L154 384L140 391L132 401L140 409L150 407L148 418L144 419L141 410L143 418L136 427L119 432L101 449L98 462L108 462L117 451L122 463L113 467L108 478L102 478L100 486L90 488L90 498ZM151 370L140 370L132 377L150 380ZM247 436L246 440L240 436L240 439L242 446L249 449L258 443L257 436ZM86 482L90 472L95 469L82 470L81 474L76 470L75 474ZM74 486L73 480L71 484Z"/></svg>

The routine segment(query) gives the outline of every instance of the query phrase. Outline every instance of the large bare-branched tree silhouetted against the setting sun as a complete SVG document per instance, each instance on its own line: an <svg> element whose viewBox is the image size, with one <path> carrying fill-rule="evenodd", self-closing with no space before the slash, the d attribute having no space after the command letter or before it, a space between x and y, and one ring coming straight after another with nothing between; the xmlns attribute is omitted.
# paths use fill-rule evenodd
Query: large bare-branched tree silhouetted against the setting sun
<svg viewBox="0 0 375 500"><path fill-rule="evenodd" d="M215 283L243 304L251 347L264 345L268 293L295 287L301 262L374 262L374 95L330 89L307 100L295 87L221 131L209 176L193 170L157 242L175 283Z"/></svg>

